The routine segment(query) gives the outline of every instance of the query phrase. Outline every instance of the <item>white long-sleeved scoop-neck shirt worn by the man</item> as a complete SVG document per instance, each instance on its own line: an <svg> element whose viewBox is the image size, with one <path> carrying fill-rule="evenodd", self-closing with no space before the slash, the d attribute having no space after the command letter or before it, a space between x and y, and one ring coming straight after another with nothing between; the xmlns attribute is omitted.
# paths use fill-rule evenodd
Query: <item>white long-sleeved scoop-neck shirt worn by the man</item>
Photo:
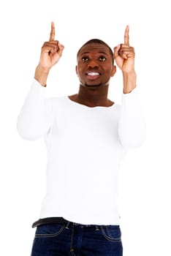
<svg viewBox="0 0 171 256"><path fill-rule="evenodd" d="M45 98L34 80L18 116L26 140L45 139L47 193L39 217L85 225L119 225L118 167L145 140L137 89L121 105L90 108L69 97Z"/></svg>

